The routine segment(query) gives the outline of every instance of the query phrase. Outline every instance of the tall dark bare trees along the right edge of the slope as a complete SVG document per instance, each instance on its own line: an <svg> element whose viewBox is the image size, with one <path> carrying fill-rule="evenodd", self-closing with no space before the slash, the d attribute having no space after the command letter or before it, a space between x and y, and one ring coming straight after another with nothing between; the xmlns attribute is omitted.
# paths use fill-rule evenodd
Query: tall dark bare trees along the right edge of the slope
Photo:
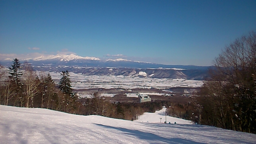
<svg viewBox="0 0 256 144"><path fill-rule="evenodd" d="M202 124L256 134L256 32L226 46L214 65L197 98Z"/></svg>

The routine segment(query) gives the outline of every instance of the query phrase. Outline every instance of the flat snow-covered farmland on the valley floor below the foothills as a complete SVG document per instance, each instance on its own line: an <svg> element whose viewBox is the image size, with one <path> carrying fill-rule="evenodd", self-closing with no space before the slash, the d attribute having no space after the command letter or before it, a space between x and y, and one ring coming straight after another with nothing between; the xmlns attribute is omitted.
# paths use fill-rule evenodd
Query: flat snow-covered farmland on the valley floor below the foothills
<svg viewBox="0 0 256 144"><path fill-rule="evenodd" d="M39 72L38 72L39 73ZM46 74L48 72L45 72ZM60 73L49 72L55 81L60 80ZM70 80L74 89L90 88L174 88L174 87L200 87L201 80L171 79L171 78L140 78L136 76L88 76L70 72Z"/></svg>

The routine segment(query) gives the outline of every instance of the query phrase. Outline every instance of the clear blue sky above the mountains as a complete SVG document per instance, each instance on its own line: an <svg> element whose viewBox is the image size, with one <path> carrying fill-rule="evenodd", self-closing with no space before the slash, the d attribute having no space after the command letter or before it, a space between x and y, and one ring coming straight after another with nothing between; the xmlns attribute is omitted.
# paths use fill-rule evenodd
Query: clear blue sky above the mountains
<svg viewBox="0 0 256 144"><path fill-rule="evenodd" d="M74 53L209 66L252 30L256 0L0 0L2 58Z"/></svg>

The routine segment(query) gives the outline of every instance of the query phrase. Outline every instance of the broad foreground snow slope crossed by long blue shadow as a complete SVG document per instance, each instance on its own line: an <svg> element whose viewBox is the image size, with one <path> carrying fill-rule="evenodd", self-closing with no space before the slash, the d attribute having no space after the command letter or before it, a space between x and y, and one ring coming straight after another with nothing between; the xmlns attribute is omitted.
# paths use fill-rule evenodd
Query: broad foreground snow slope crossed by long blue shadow
<svg viewBox="0 0 256 144"><path fill-rule="evenodd" d="M159 124L0 105L1 144L228 144L256 135L195 124Z"/></svg>

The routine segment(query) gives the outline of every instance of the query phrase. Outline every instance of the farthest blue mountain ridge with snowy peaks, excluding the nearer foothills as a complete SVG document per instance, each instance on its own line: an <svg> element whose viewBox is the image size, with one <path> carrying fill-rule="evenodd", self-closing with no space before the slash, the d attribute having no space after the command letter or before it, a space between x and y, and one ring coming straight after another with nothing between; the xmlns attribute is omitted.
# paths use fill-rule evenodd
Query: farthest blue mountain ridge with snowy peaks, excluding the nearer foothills
<svg viewBox="0 0 256 144"><path fill-rule="evenodd" d="M44 65L52 65L52 66L85 66L85 67L116 67L116 68L182 68L182 69L197 69L197 70L206 70L209 66L183 66L183 65L165 65L165 64L156 64L150 62L140 62L140 61L132 61L126 60L122 58L117 59L107 59L101 60L96 57L82 57L77 56L75 54L70 55L50 55L50 56L39 56L37 58L28 58L24 60L20 60L21 63L27 61L34 66L44 66ZM11 58L0 59L0 63L2 65L9 66L12 64Z"/></svg>

